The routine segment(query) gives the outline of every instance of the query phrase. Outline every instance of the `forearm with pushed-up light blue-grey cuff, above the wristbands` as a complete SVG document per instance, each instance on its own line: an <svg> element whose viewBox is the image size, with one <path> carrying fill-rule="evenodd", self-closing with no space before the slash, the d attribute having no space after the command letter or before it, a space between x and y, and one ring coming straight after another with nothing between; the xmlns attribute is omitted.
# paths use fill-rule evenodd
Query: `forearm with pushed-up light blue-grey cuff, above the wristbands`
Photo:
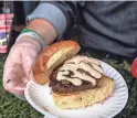
<svg viewBox="0 0 137 118"><path fill-rule="evenodd" d="M45 45L52 43L71 25L74 19L75 4L72 2L41 2L27 18L27 29L36 32L43 39ZM43 43L42 43L43 44Z"/></svg>

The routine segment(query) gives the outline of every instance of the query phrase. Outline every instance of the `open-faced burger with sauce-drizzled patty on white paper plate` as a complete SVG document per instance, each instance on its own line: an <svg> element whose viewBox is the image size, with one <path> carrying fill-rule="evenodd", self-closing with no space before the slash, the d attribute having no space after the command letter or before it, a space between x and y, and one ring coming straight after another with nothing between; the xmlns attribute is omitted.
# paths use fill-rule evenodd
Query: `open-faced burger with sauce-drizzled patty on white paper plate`
<svg viewBox="0 0 137 118"><path fill-rule="evenodd" d="M80 50L75 41L60 41L46 47L34 64L34 81L49 82L61 109L85 108L113 95L114 81L104 74L101 62L77 55Z"/></svg>

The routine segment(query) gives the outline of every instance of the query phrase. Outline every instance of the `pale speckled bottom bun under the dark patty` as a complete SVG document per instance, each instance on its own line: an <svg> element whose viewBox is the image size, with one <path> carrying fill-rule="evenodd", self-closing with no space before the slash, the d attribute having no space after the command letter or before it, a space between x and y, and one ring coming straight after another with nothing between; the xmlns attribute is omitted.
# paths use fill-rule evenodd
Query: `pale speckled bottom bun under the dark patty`
<svg viewBox="0 0 137 118"><path fill-rule="evenodd" d="M114 81L106 76L102 77L97 87L78 92L72 95L59 95L52 92L55 106L61 109L78 109L103 103L113 95Z"/></svg>

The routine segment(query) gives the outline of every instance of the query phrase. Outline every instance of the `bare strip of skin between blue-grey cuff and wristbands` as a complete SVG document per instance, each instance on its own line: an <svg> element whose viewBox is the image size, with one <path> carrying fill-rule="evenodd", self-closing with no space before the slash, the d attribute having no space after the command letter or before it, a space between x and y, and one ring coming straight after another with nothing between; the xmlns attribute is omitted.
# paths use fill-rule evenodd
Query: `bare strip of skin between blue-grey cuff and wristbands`
<svg viewBox="0 0 137 118"><path fill-rule="evenodd" d="M40 34L41 37L44 40L45 45L52 43L57 35L54 26L43 19L32 20L28 24L27 29L33 30L34 32Z"/></svg>

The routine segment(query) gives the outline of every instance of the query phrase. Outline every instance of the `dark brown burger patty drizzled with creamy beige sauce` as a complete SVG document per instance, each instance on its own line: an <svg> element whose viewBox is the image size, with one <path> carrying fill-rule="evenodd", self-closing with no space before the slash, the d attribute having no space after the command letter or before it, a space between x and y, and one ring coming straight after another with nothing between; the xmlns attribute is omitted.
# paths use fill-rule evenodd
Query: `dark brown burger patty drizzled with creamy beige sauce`
<svg viewBox="0 0 137 118"><path fill-rule="evenodd" d="M102 76L103 68L97 60L74 56L53 71L50 86L55 93L74 93L94 88Z"/></svg>

